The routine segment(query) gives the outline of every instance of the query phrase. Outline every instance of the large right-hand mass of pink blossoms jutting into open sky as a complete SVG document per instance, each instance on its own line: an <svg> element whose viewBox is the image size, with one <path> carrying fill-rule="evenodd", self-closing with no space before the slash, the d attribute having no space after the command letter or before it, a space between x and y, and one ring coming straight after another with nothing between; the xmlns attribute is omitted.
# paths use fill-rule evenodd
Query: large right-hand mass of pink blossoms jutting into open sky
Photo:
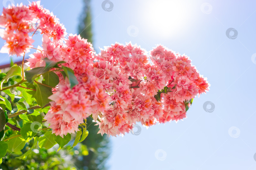
<svg viewBox="0 0 256 170"><path fill-rule="evenodd" d="M94 76L112 106L100 116L99 133L113 136L129 132L136 122L151 126L186 118L185 102L209 87L187 56L162 45L150 55L131 43L106 47L96 56Z"/></svg>

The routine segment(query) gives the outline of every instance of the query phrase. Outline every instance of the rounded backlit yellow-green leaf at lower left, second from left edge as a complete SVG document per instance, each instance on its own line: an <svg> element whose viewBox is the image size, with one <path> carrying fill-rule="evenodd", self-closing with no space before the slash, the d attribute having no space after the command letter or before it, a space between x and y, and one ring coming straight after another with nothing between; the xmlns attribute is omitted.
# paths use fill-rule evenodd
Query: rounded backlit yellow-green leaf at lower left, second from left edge
<svg viewBox="0 0 256 170"><path fill-rule="evenodd" d="M9 136L9 138L14 138L7 140L8 149L12 152L18 152L22 150L26 144L26 141L24 139L21 139L19 136L15 136L17 136L17 134L12 134L11 136Z"/></svg>

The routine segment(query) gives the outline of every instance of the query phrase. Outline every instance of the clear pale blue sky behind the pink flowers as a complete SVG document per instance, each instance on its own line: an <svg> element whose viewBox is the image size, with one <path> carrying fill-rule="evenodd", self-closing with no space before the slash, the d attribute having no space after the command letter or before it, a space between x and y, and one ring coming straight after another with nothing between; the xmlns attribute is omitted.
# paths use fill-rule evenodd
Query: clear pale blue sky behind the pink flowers
<svg viewBox="0 0 256 170"><path fill-rule="evenodd" d="M94 48L131 41L149 51L161 43L190 56L211 84L207 94L194 99L184 121L140 125L139 135L110 137L110 169L256 169L256 2L112 0L109 12L102 2L91 4ZM41 3L67 32L77 33L81 0ZM229 28L237 37L231 31L228 38ZM206 101L214 103L213 112L204 110Z"/></svg>

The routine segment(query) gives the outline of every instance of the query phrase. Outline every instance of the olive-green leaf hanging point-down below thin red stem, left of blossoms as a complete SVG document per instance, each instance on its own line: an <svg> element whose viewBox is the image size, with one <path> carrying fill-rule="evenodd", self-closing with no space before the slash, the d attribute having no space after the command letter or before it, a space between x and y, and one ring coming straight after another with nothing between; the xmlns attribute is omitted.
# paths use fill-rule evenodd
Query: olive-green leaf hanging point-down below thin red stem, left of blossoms
<svg viewBox="0 0 256 170"><path fill-rule="evenodd" d="M36 93L34 95L36 102L40 106L45 106L47 103L49 103L50 99L48 99L49 96L52 95L52 88L46 87L41 84L37 84L36 86Z"/></svg>

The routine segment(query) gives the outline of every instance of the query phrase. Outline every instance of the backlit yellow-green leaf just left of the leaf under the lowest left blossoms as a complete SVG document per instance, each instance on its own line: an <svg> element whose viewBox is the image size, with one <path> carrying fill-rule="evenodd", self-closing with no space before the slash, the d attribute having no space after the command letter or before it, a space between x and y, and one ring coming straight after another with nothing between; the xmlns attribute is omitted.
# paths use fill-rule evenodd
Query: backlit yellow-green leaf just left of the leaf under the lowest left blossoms
<svg viewBox="0 0 256 170"><path fill-rule="evenodd" d="M51 131L46 132L44 136L41 136L38 139L39 147L45 148L45 149L52 148L52 146L54 146L56 144L56 142L54 140L54 136L55 136L55 134L52 134Z"/></svg>

